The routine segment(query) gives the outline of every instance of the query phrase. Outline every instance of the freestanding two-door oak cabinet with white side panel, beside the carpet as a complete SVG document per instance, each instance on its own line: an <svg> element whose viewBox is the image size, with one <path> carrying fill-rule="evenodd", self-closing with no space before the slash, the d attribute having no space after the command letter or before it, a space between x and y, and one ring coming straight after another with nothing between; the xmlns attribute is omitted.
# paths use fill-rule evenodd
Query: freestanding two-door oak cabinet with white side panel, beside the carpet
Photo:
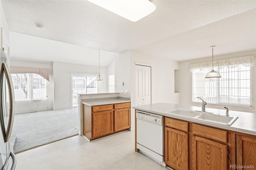
<svg viewBox="0 0 256 170"><path fill-rule="evenodd" d="M130 128L130 102L88 106L83 104L83 134L95 140Z"/></svg>

